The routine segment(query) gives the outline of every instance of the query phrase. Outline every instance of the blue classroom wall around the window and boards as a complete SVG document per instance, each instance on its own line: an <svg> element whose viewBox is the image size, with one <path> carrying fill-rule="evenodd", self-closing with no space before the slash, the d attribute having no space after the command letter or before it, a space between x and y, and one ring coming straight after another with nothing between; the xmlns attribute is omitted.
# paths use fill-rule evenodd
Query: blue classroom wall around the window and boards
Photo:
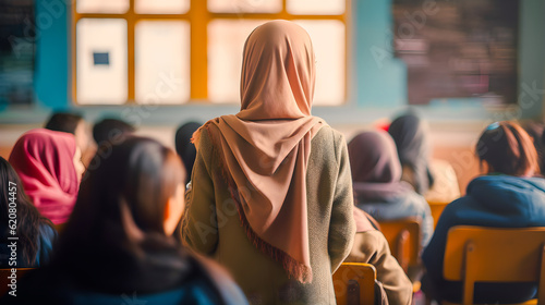
<svg viewBox="0 0 545 305"><path fill-rule="evenodd" d="M71 0L36 0L37 59L33 109L8 109L0 112L0 123L39 123L52 109L76 109L88 120L104 113L120 115L136 124L178 124L186 120L205 121L226 113L235 113L238 106L105 106L78 107L71 100L70 7ZM66 3L69 3L66 5ZM392 57L391 0L354 0L349 50L349 99L342 107L315 107L313 113L331 124L368 122L391 117L407 108L407 69ZM545 0L521 1L520 84L521 112L491 114L470 99L452 99L416 107L428 120L485 120L541 118L545 80ZM532 89L529 89L532 88ZM537 96L537 98L536 98ZM473 106L472 106L473 105ZM498 114L500 113L500 114ZM504 118L505 117L505 118Z"/></svg>

